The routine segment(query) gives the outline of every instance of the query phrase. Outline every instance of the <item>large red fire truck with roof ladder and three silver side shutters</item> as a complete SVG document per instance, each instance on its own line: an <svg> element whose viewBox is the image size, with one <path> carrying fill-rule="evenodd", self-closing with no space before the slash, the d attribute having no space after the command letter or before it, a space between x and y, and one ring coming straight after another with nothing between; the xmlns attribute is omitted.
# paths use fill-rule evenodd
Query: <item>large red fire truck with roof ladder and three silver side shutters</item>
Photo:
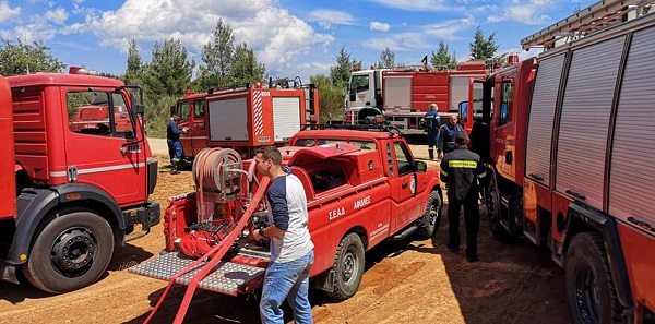
<svg viewBox="0 0 655 324"><path fill-rule="evenodd" d="M552 251L575 323L655 321L654 2L581 10L469 91L491 232Z"/></svg>

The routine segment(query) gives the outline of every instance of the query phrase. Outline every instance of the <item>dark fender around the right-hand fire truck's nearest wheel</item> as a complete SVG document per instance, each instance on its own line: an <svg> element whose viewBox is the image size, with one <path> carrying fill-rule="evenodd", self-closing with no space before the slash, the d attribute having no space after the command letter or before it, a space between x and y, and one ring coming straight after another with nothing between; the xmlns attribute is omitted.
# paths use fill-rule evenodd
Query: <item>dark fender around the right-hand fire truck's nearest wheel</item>
<svg viewBox="0 0 655 324"><path fill-rule="evenodd" d="M600 232L605 251L609 259L611 278L617 289L619 302L626 308L632 308L632 291L630 289L628 269L621 250L616 219L602 212L581 205L577 202L569 205L568 213L569 217L567 217L565 230L562 235L564 244L563 250L560 251L561 255L565 255L565 250L569 248L571 239L576 233L584 231L585 228L590 229L591 227L593 230Z"/></svg>

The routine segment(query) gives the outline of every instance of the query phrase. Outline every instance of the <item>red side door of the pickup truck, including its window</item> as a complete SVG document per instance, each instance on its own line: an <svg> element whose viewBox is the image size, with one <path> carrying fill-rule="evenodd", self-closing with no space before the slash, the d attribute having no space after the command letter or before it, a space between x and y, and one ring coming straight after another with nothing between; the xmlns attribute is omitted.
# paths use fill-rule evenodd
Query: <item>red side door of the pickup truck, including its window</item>
<svg viewBox="0 0 655 324"><path fill-rule="evenodd" d="M391 232L396 232L419 215L421 202L412 199L416 193L416 176L414 160L407 145L402 141L393 142L393 144L388 142L386 152L393 208Z"/></svg>

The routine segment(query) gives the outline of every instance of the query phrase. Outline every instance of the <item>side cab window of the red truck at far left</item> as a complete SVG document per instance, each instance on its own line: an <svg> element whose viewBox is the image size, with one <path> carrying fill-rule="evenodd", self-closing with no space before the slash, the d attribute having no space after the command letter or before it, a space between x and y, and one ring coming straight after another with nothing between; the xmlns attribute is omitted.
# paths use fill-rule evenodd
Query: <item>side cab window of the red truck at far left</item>
<svg viewBox="0 0 655 324"><path fill-rule="evenodd" d="M134 137L132 115L126 98L112 92L68 92L69 129L72 132L112 137Z"/></svg>

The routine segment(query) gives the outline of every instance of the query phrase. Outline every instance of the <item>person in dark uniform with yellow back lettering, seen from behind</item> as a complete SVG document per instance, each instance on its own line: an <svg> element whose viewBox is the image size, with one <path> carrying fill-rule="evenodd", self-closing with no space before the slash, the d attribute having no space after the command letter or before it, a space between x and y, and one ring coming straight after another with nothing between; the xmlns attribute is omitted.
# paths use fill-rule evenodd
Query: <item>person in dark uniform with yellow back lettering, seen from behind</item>
<svg viewBox="0 0 655 324"><path fill-rule="evenodd" d="M460 211L464 205L466 261L476 262L477 235L480 227L478 178L486 175L480 156L468 151L468 134L456 132L456 148L441 160L441 181L448 185L448 249L460 251Z"/></svg>

